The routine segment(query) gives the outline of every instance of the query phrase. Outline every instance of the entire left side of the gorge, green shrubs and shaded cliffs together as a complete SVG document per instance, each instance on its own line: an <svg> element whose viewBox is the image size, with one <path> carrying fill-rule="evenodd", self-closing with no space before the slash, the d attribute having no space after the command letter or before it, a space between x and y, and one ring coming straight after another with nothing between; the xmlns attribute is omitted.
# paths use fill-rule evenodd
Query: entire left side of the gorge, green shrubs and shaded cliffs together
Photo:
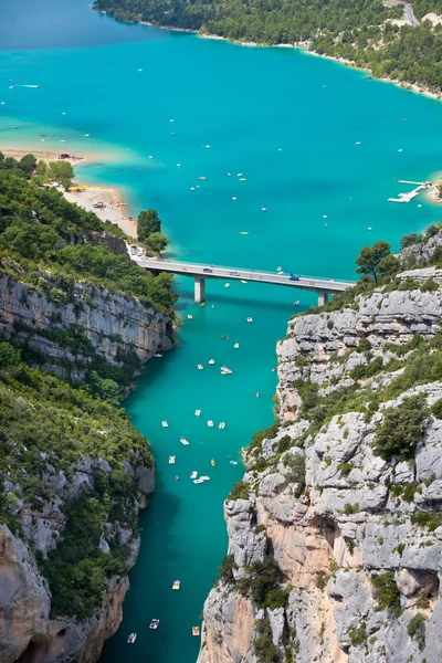
<svg viewBox="0 0 442 663"><path fill-rule="evenodd" d="M0 152L0 660L92 663L155 484L119 403L171 347L176 295L43 171Z"/></svg>

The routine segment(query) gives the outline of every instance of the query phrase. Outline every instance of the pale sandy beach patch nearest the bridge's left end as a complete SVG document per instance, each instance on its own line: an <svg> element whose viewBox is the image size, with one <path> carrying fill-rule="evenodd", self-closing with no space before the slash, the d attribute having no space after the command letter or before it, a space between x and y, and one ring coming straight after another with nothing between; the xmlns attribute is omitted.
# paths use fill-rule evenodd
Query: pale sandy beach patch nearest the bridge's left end
<svg viewBox="0 0 442 663"><path fill-rule="evenodd" d="M71 191L65 191L64 197L70 202L76 202L88 212L95 212L102 221L116 223L130 238L137 236L137 223L126 215L125 210L127 207L117 190L75 182ZM104 203L105 207L103 209L94 208L97 202Z"/></svg>

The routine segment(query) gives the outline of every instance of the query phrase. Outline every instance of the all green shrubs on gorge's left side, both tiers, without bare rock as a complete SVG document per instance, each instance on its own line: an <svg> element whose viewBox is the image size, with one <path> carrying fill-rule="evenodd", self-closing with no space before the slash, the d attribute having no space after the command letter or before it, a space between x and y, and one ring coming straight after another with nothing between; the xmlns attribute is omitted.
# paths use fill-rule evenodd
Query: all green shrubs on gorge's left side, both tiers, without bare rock
<svg viewBox="0 0 442 663"><path fill-rule="evenodd" d="M34 330L13 320L13 333L6 335L2 329L10 324L0 316L0 526L29 541L22 529L23 511L39 517L52 503L56 477L64 477L69 486L78 464L90 464L92 488L62 506L65 524L56 547L43 558L29 543L52 593L52 617L85 619L105 598L108 578L127 571L129 545L114 536L106 550L101 545L103 532L110 523L137 535L140 493L135 476L152 466L152 457L147 440L119 404L140 368L135 350L123 349L116 362L106 361L95 352L84 327L61 325L62 313L69 305L82 309L75 297L78 284L85 296L95 293L95 301L106 302L116 293L116 301L130 303L135 296L137 306L170 322L177 296L170 275L146 273L127 253L114 253L103 243L109 239L112 244L112 235L125 238L116 225L103 223L48 186L56 179L69 188L72 176L69 164L36 164L31 155L17 161L0 152L3 294L25 287L41 301L45 297L61 312L55 315L60 319L49 329L39 328L39 335L46 334L69 351L72 369L76 357L88 361L80 383L51 375L48 357L19 339ZM27 296L20 305L32 312Z"/></svg>

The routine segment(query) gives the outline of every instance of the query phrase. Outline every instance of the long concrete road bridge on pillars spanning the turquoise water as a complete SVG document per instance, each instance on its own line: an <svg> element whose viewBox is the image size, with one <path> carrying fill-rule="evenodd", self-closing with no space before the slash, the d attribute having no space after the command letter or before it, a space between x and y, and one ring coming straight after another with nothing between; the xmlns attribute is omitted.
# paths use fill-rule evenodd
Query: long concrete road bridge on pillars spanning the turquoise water
<svg viewBox="0 0 442 663"><path fill-rule="evenodd" d="M206 302L206 280L223 278L224 281L249 281L254 283L272 283L285 285L298 290L313 291L318 295L318 306L322 306L328 295L343 293L347 287L356 285L354 281L333 281L332 278L316 278L313 276L294 275L277 272L261 272L257 270L244 270L235 267L220 267L215 265L203 265L200 263L176 262L169 260L157 260L145 255L130 255L131 260L146 270L170 272L194 278L194 301L197 304Z"/></svg>

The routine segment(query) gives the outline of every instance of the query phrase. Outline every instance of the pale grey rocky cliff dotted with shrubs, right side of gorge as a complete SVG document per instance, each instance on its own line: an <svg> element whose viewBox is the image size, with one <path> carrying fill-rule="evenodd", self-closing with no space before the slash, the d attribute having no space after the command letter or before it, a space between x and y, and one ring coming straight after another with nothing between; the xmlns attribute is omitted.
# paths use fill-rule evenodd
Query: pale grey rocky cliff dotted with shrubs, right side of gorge
<svg viewBox="0 0 442 663"><path fill-rule="evenodd" d="M199 663L441 661L441 284L412 270L290 323Z"/></svg>

